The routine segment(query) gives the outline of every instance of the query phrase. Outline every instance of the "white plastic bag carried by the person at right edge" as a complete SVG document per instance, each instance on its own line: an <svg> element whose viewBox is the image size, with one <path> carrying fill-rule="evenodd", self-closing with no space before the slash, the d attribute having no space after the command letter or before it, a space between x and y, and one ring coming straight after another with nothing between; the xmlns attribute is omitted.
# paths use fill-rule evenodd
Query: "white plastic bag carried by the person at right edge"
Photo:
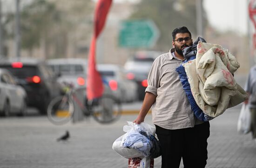
<svg viewBox="0 0 256 168"><path fill-rule="evenodd" d="M237 131L242 134L247 134L250 131L250 126L251 114L249 106L243 103L237 122Z"/></svg>

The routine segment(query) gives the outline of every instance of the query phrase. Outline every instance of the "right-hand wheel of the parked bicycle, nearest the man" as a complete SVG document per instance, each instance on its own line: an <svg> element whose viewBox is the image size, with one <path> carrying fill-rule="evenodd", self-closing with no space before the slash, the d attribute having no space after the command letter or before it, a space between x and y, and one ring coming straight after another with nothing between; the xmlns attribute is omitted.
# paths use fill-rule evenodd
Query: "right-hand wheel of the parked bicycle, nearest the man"
<svg viewBox="0 0 256 168"><path fill-rule="evenodd" d="M97 122L112 123L121 116L121 102L112 95L103 95L93 101L90 111Z"/></svg>

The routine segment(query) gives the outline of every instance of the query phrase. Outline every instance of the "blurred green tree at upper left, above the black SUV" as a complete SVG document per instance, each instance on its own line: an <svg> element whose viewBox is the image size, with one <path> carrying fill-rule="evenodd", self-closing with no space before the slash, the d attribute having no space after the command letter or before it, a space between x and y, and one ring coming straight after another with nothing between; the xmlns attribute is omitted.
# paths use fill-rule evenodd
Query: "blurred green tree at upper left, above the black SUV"
<svg viewBox="0 0 256 168"><path fill-rule="evenodd" d="M92 4L91 0L32 0L22 6L21 48L30 56L34 49L43 48L45 58L67 57L68 47L90 34ZM8 37L13 38L14 14L8 14L6 20L5 26L12 27ZM86 25L88 31L84 35L76 35L80 25Z"/></svg>

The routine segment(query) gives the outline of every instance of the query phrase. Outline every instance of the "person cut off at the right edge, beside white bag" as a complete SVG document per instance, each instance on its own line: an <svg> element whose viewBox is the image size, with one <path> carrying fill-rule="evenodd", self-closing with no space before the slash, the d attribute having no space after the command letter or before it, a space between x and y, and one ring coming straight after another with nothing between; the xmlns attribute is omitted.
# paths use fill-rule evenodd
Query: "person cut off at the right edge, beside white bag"
<svg viewBox="0 0 256 168"><path fill-rule="evenodd" d="M249 94L249 100L244 103L249 103L252 138L256 143L256 65L250 69L244 90Z"/></svg>

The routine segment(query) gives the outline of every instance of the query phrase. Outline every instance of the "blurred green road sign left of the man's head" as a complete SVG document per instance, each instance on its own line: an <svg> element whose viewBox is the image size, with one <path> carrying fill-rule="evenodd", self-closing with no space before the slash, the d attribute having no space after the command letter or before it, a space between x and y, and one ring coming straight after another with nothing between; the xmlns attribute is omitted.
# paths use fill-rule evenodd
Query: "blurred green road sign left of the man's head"
<svg viewBox="0 0 256 168"><path fill-rule="evenodd" d="M152 47L159 31L151 20L128 20L121 23L119 46L127 48Z"/></svg>

